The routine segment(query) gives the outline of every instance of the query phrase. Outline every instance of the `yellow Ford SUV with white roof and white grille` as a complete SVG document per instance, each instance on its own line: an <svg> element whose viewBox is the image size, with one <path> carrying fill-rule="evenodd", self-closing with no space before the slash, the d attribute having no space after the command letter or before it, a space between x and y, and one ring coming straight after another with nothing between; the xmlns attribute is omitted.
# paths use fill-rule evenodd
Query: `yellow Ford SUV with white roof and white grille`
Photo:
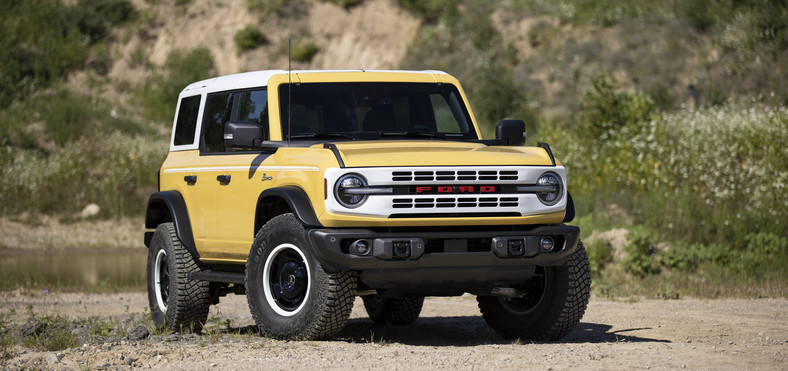
<svg viewBox="0 0 788 371"><path fill-rule="evenodd" d="M335 335L424 296L477 296L501 336L557 340L580 321L588 256L547 144L521 120L483 139L440 71L258 71L181 92L145 225L154 321L199 331L245 294L261 334Z"/></svg>

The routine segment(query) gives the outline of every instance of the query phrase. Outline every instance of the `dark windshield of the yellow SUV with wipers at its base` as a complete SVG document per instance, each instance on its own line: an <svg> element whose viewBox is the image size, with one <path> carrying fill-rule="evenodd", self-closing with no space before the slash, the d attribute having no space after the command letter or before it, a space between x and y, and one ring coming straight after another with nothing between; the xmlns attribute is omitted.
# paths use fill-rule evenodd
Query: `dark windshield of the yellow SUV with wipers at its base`
<svg viewBox="0 0 788 371"><path fill-rule="evenodd" d="M289 92L288 87L279 86L285 139L290 115L290 139L478 139L451 84L303 83L292 84Z"/></svg>

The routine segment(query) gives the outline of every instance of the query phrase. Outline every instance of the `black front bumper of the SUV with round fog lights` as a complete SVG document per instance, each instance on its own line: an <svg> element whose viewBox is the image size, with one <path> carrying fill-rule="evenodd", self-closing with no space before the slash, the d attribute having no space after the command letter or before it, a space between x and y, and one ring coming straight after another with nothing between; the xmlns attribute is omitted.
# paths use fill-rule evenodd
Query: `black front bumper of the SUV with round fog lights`
<svg viewBox="0 0 788 371"><path fill-rule="evenodd" d="M537 266L563 265L577 248L580 229L564 225L527 231L312 229L307 234L326 270L359 271L362 286L401 294L456 295L523 282ZM549 251L542 247L544 238L554 242ZM356 249L358 241L365 241L367 252Z"/></svg>

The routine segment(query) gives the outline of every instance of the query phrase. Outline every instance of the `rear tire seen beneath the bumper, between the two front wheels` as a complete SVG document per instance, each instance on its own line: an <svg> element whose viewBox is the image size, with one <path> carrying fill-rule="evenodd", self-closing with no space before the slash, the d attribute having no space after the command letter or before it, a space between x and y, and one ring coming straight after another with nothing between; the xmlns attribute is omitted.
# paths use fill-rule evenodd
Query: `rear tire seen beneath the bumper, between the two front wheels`
<svg viewBox="0 0 788 371"><path fill-rule="evenodd" d="M424 305L423 296L403 296L382 299L377 295L364 296L364 308L372 322L379 325L409 325L419 318Z"/></svg>

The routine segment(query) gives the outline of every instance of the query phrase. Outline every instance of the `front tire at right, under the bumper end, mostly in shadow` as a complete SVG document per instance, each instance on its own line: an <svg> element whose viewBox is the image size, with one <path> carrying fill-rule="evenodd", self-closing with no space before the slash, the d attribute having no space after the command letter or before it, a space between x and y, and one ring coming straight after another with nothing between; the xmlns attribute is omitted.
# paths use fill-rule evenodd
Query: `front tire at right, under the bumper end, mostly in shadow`
<svg viewBox="0 0 788 371"><path fill-rule="evenodd" d="M537 267L537 275L517 287L526 296L508 299L478 296L487 324L499 335L535 341L555 341L577 326L588 306L591 269L583 243L560 267Z"/></svg>

